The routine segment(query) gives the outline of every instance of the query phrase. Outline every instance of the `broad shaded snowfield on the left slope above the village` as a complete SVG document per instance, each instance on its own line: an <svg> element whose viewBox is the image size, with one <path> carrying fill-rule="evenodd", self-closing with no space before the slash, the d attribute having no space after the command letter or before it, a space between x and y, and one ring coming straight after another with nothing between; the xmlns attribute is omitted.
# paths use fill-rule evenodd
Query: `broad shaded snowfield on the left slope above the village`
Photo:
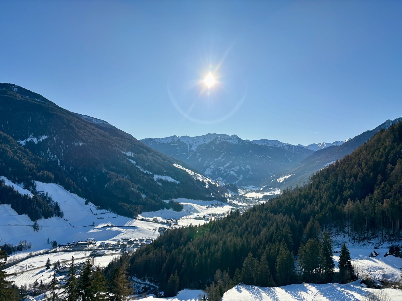
<svg viewBox="0 0 402 301"><path fill-rule="evenodd" d="M104 209L96 209L92 203L85 205L85 199L66 191L57 184L38 181L36 184L38 191L47 192L53 201L59 204L64 212L64 219L53 217L38 220L41 228L35 232L32 227L33 222L28 216L18 215L10 205L0 205L2 242L18 244L20 240L26 239L27 242L32 243L31 249L14 253L10 259L13 256L26 255L28 252L48 249L47 238L56 240L58 244L66 244L73 240L87 238L94 238L97 242L115 242L119 238L156 238L158 236L153 223L117 216ZM92 226L92 222L95 223L96 228Z"/></svg>

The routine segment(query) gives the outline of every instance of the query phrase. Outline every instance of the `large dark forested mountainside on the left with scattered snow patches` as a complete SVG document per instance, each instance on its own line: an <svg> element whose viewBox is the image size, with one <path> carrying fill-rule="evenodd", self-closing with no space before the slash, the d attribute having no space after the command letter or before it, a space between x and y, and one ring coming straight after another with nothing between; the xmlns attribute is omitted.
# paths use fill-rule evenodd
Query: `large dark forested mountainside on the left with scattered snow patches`
<svg viewBox="0 0 402 301"><path fill-rule="evenodd" d="M179 166L193 169L103 120L0 83L0 175L14 183L59 183L129 217L161 209L169 198L224 199L224 186Z"/></svg>

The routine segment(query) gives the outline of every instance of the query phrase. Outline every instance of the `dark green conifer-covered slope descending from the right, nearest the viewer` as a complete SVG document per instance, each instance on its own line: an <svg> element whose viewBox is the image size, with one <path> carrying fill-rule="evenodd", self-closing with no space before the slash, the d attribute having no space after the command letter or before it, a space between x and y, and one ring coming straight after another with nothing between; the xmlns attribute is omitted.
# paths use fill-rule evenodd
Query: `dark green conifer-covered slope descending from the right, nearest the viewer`
<svg viewBox="0 0 402 301"><path fill-rule="evenodd" d="M234 284L241 279L240 274L244 283L262 285L258 275L268 273L270 277L264 279L270 280L264 285L287 285L301 281L293 258L293 254L300 255L299 247L306 252L302 255L310 254L314 262L332 253L328 236L322 238L326 248L318 242L324 228L332 236L349 236L357 242L373 236L391 240L400 236L401 214L399 122L312 175L303 187L284 189L281 196L244 214L233 212L203 226L166 232L135 252L131 273L157 281L167 290L172 283L180 288L205 287L223 271ZM320 275L312 276L309 281L328 281L317 277Z"/></svg>

